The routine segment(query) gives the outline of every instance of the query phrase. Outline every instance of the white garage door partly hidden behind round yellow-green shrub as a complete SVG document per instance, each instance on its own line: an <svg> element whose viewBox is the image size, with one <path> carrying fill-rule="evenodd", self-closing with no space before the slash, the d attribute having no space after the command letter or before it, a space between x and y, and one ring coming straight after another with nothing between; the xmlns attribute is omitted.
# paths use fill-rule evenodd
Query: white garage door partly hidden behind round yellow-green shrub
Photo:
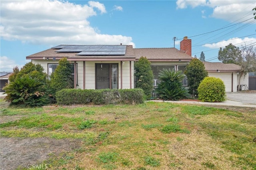
<svg viewBox="0 0 256 170"><path fill-rule="evenodd" d="M209 77L222 79L225 84L226 92L232 91L232 73L208 73Z"/></svg>

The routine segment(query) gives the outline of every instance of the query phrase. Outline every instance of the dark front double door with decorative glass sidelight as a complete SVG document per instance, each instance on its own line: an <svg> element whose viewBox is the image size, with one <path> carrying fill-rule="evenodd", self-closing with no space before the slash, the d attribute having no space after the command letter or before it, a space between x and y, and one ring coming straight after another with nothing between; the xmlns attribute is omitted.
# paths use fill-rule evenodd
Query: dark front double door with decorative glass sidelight
<svg viewBox="0 0 256 170"><path fill-rule="evenodd" d="M118 89L118 63L96 63L96 89Z"/></svg>

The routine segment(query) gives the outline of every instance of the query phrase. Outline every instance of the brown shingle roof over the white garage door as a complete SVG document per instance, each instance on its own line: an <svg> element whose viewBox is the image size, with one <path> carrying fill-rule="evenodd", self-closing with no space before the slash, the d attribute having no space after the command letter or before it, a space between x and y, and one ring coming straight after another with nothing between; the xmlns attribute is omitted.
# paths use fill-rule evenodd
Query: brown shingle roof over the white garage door
<svg viewBox="0 0 256 170"><path fill-rule="evenodd" d="M206 62L204 61L204 67L208 72L216 72L216 70L222 71L222 72L228 72L228 71L240 71L241 67L236 64L225 64L220 62Z"/></svg>

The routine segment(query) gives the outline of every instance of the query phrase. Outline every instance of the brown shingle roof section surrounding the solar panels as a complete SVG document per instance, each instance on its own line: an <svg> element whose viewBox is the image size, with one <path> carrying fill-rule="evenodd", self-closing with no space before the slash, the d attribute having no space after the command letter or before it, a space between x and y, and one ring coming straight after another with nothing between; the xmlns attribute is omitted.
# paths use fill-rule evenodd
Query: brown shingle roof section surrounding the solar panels
<svg viewBox="0 0 256 170"><path fill-rule="evenodd" d="M61 59L67 57L70 61L135 61L132 45L126 45L125 55L77 55L79 52L56 52L58 49L50 48L28 55L26 59Z"/></svg>

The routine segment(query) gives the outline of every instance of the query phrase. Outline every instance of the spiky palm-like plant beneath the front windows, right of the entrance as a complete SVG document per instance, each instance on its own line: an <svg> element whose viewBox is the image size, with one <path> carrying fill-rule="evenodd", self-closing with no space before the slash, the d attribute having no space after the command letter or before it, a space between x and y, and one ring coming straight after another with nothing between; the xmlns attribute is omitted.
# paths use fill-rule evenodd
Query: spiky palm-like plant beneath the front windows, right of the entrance
<svg viewBox="0 0 256 170"><path fill-rule="evenodd" d="M159 73L161 83L156 87L156 93L164 100L178 101L189 96L188 90L182 86L185 75L182 71L170 71L163 69Z"/></svg>

